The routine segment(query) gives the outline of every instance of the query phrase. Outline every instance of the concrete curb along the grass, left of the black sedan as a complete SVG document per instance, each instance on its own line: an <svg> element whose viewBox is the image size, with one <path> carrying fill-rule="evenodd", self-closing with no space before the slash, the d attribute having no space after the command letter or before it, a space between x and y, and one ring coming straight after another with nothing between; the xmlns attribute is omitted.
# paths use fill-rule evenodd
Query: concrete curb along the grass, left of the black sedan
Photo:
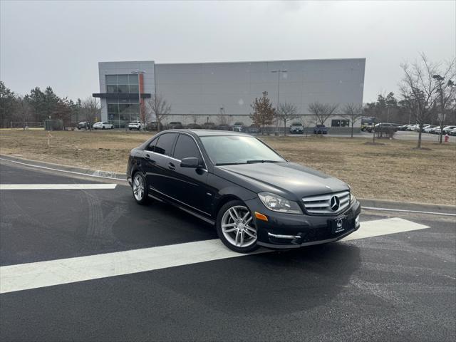
<svg viewBox="0 0 456 342"><path fill-rule="evenodd" d="M63 171L63 172L70 172L77 175L84 175L90 177L100 177L100 178L109 178L112 180L122 180L126 181L127 177L124 173L117 173L117 172L110 172L110 171L102 171L102 170L90 170L83 167L73 167L68 165L61 165L61 164L54 164L52 162L41 162L36 160L29 160L20 157L14 157L11 155L0 155L0 159L9 160L10 162L17 162L24 165L35 166L35 167L42 167L48 170L53 171Z"/></svg>

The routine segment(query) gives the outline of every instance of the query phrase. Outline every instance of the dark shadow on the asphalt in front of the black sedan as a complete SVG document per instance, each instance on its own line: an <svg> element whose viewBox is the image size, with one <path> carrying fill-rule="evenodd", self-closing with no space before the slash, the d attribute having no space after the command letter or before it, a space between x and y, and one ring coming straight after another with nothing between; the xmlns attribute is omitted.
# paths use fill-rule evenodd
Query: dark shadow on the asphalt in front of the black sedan
<svg viewBox="0 0 456 342"><path fill-rule="evenodd" d="M162 286L227 314L275 316L332 301L360 265L358 247L334 243L184 266Z"/></svg>

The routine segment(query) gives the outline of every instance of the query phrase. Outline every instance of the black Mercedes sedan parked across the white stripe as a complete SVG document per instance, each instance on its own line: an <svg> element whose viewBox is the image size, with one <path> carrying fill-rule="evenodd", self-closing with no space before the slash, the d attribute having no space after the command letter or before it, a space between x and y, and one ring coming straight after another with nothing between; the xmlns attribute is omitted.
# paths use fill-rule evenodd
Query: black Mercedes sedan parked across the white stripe
<svg viewBox="0 0 456 342"><path fill-rule="evenodd" d="M244 133L165 130L131 150L127 177L136 202L168 202L214 224L235 252L333 242L359 227L346 183Z"/></svg>

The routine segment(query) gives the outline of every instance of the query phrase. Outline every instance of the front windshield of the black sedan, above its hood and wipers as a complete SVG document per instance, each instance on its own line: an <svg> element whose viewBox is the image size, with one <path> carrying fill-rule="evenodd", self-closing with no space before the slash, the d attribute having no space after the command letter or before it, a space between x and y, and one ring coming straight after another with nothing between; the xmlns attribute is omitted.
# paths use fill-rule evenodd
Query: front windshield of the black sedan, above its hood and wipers
<svg viewBox="0 0 456 342"><path fill-rule="evenodd" d="M254 137L200 137L202 145L216 165L247 164L247 162L284 162L274 150Z"/></svg>

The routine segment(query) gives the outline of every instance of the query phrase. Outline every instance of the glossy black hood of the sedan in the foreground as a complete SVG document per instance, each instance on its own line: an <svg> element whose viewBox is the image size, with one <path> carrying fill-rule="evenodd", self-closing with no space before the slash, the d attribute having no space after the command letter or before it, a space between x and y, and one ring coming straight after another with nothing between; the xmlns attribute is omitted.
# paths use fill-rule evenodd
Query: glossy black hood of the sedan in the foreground
<svg viewBox="0 0 456 342"><path fill-rule="evenodd" d="M350 189L337 178L293 162L216 166L214 174L254 192L273 192L292 200Z"/></svg>

